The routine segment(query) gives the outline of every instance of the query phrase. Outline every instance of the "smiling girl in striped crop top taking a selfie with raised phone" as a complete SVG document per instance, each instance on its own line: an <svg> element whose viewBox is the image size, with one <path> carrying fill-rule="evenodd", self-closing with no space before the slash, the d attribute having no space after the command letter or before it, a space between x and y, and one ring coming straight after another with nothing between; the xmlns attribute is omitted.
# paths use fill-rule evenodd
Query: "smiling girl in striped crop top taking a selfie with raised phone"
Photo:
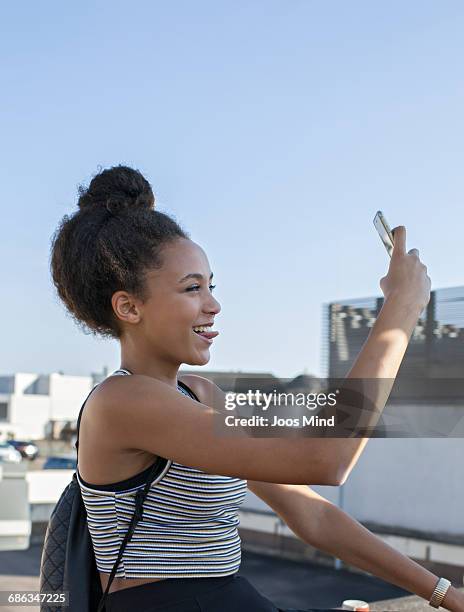
<svg viewBox="0 0 464 612"><path fill-rule="evenodd" d="M247 487L305 542L429 600L437 576L308 487L343 484L366 438L215 435L223 391L178 373L183 363L210 359L221 310L213 273L201 247L154 210L147 180L116 166L79 191L79 210L53 237L53 281L79 324L121 345L121 368L94 387L80 422L77 474L103 589L135 494L157 458L168 459L150 487L107 609L276 612L236 575L238 509ZM348 378L393 381L429 301L427 269L417 249L406 252L403 226L380 286L383 307ZM442 605L464 610L463 599L451 587Z"/></svg>

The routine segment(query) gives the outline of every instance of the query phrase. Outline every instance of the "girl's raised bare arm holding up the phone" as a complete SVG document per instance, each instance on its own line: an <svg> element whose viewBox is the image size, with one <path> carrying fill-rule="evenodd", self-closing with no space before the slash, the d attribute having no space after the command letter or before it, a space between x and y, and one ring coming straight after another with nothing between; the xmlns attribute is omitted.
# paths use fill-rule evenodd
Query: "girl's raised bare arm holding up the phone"
<svg viewBox="0 0 464 612"><path fill-rule="evenodd" d="M385 303L349 376L396 375L408 340L427 304L430 279L416 254L405 252L399 228L387 276ZM211 391L213 390L213 391ZM215 419L224 393L213 385L202 403L170 385L142 375L110 377L94 392L94 424L118 448L142 449L208 473L265 482L342 483L366 440L256 438L218 435ZM383 408L387 397L381 398Z"/></svg>

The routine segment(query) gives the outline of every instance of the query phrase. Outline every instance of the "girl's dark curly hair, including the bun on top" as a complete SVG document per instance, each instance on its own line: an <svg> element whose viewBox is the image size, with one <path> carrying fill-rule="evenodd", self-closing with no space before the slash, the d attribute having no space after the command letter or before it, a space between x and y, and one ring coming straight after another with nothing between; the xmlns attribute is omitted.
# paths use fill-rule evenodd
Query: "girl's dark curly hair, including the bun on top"
<svg viewBox="0 0 464 612"><path fill-rule="evenodd" d="M147 299L145 273L162 267L166 244L189 235L154 210L150 183L133 168L107 168L78 191L79 210L65 215L52 237L53 283L84 332L120 338L114 292Z"/></svg>

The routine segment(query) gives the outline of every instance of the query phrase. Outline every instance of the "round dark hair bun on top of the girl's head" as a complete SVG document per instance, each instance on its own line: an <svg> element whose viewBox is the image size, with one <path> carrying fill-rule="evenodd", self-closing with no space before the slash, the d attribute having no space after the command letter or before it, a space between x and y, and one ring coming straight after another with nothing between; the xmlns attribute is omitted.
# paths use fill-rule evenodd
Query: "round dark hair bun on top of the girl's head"
<svg viewBox="0 0 464 612"><path fill-rule="evenodd" d="M79 187L79 196L81 210L104 208L118 214L155 207L150 183L138 170L128 166L113 166L101 171L87 189Z"/></svg>

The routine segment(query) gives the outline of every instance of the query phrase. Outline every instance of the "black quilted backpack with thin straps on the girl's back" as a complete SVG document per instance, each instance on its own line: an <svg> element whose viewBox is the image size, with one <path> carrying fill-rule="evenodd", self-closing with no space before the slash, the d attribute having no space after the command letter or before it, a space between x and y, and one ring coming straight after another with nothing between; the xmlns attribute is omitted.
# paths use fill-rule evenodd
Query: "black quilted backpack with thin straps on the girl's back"
<svg viewBox="0 0 464 612"><path fill-rule="evenodd" d="M182 383L179 384L191 394L190 389ZM79 451L79 425L82 410L96 386L87 396L79 412L77 451ZM61 494L50 516L40 562L40 592L68 592L69 605L60 606L44 602L40 606L41 612L102 612L105 610L106 596L117 567L138 521L142 518L145 497L151 483L163 471L166 463L166 459L159 457L148 475L145 487L136 493L135 511L104 593L87 525L87 513L76 472L74 472L71 482Z"/></svg>

